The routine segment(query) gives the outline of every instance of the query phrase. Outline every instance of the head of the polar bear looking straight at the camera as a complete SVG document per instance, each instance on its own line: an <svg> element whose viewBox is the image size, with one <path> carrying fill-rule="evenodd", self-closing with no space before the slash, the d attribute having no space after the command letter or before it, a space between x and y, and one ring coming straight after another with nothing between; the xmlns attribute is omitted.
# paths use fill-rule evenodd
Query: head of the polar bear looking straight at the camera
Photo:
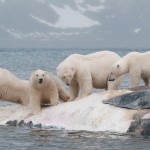
<svg viewBox="0 0 150 150"><path fill-rule="evenodd" d="M49 84L48 72L40 69L34 71L30 77L30 84L35 88L47 86Z"/></svg>

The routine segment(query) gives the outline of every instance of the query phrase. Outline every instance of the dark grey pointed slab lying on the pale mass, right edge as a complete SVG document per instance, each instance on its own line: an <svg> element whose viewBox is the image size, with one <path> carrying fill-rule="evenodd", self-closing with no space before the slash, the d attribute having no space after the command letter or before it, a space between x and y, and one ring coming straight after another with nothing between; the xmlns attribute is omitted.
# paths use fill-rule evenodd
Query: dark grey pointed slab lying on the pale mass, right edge
<svg viewBox="0 0 150 150"><path fill-rule="evenodd" d="M127 93L104 100L103 103L129 109L148 109L150 108L150 89Z"/></svg>

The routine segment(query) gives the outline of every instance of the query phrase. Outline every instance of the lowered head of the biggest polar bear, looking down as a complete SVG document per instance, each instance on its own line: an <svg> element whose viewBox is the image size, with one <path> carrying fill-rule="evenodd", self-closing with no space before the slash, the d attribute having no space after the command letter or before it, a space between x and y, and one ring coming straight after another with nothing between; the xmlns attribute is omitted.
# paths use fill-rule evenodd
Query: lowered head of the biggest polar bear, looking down
<svg viewBox="0 0 150 150"><path fill-rule="evenodd" d="M75 74L75 66L72 64L61 64L57 68L57 76L63 80L68 86Z"/></svg>

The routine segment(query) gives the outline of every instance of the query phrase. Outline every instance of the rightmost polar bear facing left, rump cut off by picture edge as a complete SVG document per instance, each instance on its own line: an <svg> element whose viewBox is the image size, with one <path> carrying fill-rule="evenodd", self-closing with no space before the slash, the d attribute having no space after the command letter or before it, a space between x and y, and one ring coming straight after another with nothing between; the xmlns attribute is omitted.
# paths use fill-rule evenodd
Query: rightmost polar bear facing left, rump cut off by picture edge
<svg viewBox="0 0 150 150"><path fill-rule="evenodd" d="M125 55L112 66L109 80L115 81L126 73L129 73L131 77L131 88L137 87L141 78L145 85L148 86L150 78L150 51L145 53L130 52Z"/></svg>

